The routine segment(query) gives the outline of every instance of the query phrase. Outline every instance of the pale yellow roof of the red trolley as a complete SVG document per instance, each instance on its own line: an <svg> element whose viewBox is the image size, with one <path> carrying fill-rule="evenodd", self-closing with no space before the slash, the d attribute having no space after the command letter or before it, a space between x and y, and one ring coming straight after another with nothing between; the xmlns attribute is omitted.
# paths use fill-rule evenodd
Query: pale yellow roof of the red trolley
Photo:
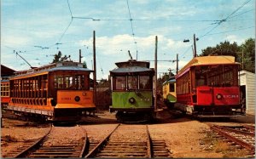
<svg viewBox="0 0 256 159"><path fill-rule="evenodd" d="M177 74L181 74L183 71L187 70L187 68L195 65L239 65L238 62L235 61L234 56L201 56L195 57L189 61L189 63L178 71Z"/></svg>

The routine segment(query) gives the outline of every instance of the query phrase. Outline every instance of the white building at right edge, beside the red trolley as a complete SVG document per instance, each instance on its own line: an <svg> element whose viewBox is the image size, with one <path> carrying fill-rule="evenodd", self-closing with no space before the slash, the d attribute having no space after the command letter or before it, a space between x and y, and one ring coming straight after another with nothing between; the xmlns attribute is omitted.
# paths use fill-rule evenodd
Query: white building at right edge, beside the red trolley
<svg viewBox="0 0 256 159"><path fill-rule="evenodd" d="M249 71L240 71L240 85L241 85L241 95L245 94L246 97L246 113L255 113L255 73Z"/></svg>

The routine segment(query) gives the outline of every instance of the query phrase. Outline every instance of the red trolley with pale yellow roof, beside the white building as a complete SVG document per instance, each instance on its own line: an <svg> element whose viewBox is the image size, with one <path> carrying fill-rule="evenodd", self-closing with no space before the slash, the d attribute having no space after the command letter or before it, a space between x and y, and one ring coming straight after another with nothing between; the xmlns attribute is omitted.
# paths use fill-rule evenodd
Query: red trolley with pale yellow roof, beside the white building
<svg viewBox="0 0 256 159"><path fill-rule="evenodd" d="M239 66L232 56L190 60L176 76L175 108L196 116L232 116L241 112Z"/></svg>

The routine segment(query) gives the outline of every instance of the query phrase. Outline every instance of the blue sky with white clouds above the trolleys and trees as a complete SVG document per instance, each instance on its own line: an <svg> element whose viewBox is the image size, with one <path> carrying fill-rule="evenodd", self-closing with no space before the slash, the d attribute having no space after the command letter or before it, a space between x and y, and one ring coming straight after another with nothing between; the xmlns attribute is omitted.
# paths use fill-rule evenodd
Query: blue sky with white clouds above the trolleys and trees
<svg viewBox="0 0 256 159"><path fill-rule="evenodd" d="M128 50L154 68L156 37L158 77L176 74L177 54L178 69L193 58L194 34L197 54L255 38L255 0L1 0L1 64L27 70L48 65L59 51L79 62L81 49L92 70L93 31L97 80L130 60Z"/></svg>

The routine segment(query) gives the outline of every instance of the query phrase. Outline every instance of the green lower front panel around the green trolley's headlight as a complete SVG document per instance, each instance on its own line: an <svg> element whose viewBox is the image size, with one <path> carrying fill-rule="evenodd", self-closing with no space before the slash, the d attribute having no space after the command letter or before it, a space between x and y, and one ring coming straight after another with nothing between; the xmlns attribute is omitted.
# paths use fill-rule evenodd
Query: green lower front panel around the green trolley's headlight
<svg viewBox="0 0 256 159"><path fill-rule="evenodd" d="M135 103L131 104L129 99L135 99ZM112 93L113 108L150 108L152 107L152 92L113 92Z"/></svg>

